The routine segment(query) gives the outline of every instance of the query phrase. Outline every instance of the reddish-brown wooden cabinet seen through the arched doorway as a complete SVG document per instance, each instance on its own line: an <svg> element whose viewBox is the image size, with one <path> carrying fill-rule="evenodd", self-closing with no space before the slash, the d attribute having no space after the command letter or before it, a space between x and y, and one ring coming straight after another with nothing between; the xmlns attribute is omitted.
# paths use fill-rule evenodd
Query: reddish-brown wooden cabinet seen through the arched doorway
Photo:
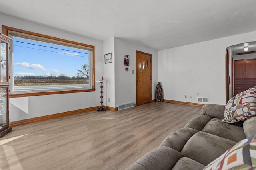
<svg viewBox="0 0 256 170"><path fill-rule="evenodd" d="M256 59L234 61L234 95L256 86Z"/></svg>

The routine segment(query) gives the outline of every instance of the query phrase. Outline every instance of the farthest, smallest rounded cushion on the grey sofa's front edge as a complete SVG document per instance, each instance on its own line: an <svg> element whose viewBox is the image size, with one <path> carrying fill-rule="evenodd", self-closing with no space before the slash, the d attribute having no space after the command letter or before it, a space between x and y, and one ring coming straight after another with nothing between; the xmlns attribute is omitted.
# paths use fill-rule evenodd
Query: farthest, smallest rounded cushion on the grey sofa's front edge
<svg viewBox="0 0 256 170"><path fill-rule="evenodd" d="M185 127L189 127L192 129L196 129L198 131L202 131L204 129L204 126L212 119L212 117L208 115L198 115L191 119Z"/></svg>

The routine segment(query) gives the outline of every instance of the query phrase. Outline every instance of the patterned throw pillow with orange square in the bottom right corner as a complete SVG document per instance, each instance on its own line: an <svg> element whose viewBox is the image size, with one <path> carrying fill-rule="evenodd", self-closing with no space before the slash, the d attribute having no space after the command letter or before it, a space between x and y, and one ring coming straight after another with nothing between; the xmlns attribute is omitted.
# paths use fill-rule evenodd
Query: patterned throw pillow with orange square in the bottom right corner
<svg viewBox="0 0 256 170"><path fill-rule="evenodd" d="M252 135L228 149L208 164L204 170L253 170L256 168L256 135Z"/></svg>

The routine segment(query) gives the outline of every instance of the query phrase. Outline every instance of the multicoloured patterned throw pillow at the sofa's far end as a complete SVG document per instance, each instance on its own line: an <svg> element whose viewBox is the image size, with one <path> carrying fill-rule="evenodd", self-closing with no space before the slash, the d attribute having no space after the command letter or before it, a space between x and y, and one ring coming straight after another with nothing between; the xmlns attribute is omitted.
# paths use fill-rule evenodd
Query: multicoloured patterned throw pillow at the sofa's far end
<svg viewBox="0 0 256 170"><path fill-rule="evenodd" d="M225 106L223 122L236 123L255 116L256 86L231 98Z"/></svg>

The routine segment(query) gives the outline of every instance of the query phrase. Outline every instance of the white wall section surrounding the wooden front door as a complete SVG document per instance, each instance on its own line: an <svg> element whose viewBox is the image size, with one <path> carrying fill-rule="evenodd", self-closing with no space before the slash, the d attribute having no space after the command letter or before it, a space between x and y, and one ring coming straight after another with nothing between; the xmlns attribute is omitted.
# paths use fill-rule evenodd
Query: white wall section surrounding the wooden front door
<svg viewBox="0 0 256 170"><path fill-rule="evenodd" d="M152 54L152 99L155 99L154 93L158 83L157 51L115 37L115 107L128 102L136 103L136 50ZM125 55L129 55L130 59L128 71L124 66Z"/></svg>

